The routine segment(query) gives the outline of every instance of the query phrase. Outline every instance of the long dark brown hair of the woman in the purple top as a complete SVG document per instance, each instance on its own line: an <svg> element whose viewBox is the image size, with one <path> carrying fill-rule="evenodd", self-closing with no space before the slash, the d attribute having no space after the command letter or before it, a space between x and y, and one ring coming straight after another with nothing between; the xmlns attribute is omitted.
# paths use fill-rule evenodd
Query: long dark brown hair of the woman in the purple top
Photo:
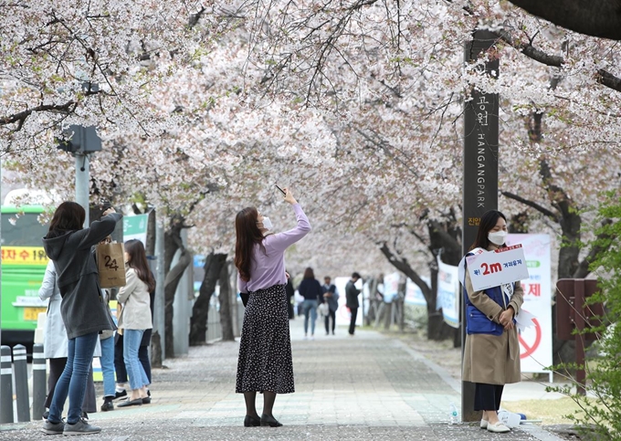
<svg viewBox="0 0 621 441"><path fill-rule="evenodd" d="M258 211L254 206L248 206L235 216L235 266L239 271L239 277L247 282L250 280L250 266L252 264L252 251L255 245L263 247L263 233L258 229Z"/></svg>

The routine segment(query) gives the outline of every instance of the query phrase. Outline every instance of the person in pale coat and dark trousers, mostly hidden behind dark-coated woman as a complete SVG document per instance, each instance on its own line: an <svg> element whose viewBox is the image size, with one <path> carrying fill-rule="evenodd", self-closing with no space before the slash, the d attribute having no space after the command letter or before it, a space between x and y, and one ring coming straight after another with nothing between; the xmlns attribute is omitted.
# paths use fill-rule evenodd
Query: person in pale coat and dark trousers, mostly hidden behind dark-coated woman
<svg viewBox="0 0 621 441"><path fill-rule="evenodd" d="M47 396L44 406L46 409L49 409L52 405L52 397L54 396L58 378L60 378L60 375L67 365L68 355L67 331L65 330L65 323L62 321L60 313L62 297L60 297L60 291L58 290L56 268L54 268L54 262L52 260L47 262L46 274L43 276L43 283L41 284L41 288L39 288L38 295L39 299L49 299L47 304L46 324L43 328L43 355L49 362ZM99 356L98 352L96 348L93 355L96 357ZM83 418L88 418L90 413L97 412L96 395L91 364L87 377L86 393L82 401ZM43 416L47 419L49 411L47 410Z"/></svg>

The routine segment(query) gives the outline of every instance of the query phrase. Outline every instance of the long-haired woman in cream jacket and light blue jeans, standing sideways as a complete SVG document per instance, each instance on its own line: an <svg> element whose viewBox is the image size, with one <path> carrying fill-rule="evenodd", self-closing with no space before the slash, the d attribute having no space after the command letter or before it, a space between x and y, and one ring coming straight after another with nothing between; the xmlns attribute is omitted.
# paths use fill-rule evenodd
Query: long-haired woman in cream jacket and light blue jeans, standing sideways
<svg viewBox="0 0 621 441"><path fill-rule="evenodd" d="M126 283L117 299L122 305L119 329L123 333L123 360L130 376L132 393L117 407L151 402L146 388L149 379L138 359L138 350L144 331L153 328L149 292L155 289L155 280L140 240L125 242L125 268Z"/></svg>

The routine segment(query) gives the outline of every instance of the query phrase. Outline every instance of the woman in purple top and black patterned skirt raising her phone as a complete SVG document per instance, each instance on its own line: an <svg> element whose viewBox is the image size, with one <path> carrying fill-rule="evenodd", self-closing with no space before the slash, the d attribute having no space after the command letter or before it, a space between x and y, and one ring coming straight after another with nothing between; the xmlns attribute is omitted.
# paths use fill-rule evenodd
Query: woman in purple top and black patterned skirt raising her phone
<svg viewBox="0 0 621 441"><path fill-rule="evenodd" d="M248 293L237 360L236 393L244 394L245 426L281 424L272 414L276 394L295 392L287 308L285 250L310 231L308 217L289 189L285 201L298 225L284 233L268 234L269 218L247 207L235 219L235 266L239 292ZM263 413L255 406L263 393Z"/></svg>

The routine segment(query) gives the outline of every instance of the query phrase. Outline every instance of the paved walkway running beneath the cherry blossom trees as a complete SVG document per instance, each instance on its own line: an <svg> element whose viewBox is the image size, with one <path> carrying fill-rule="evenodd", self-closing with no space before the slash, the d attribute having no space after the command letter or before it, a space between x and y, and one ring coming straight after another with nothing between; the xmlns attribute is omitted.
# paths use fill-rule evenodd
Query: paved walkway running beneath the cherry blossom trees
<svg viewBox="0 0 621 441"><path fill-rule="evenodd" d="M152 404L90 415L102 431L88 439L560 439L534 425L506 435L449 425L449 405L460 403L459 384L436 364L375 331L351 338L344 329L336 336L320 329L314 341L304 341L301 324L300 318L291 321L297 392L278 395L274 406L284 426L243 427L244 400L234 392L238 343L217 342L154 370ZM261 401L258 396L259 413ZM49 439L38 432L40 425L5 425L0 440Z"/></svg>

